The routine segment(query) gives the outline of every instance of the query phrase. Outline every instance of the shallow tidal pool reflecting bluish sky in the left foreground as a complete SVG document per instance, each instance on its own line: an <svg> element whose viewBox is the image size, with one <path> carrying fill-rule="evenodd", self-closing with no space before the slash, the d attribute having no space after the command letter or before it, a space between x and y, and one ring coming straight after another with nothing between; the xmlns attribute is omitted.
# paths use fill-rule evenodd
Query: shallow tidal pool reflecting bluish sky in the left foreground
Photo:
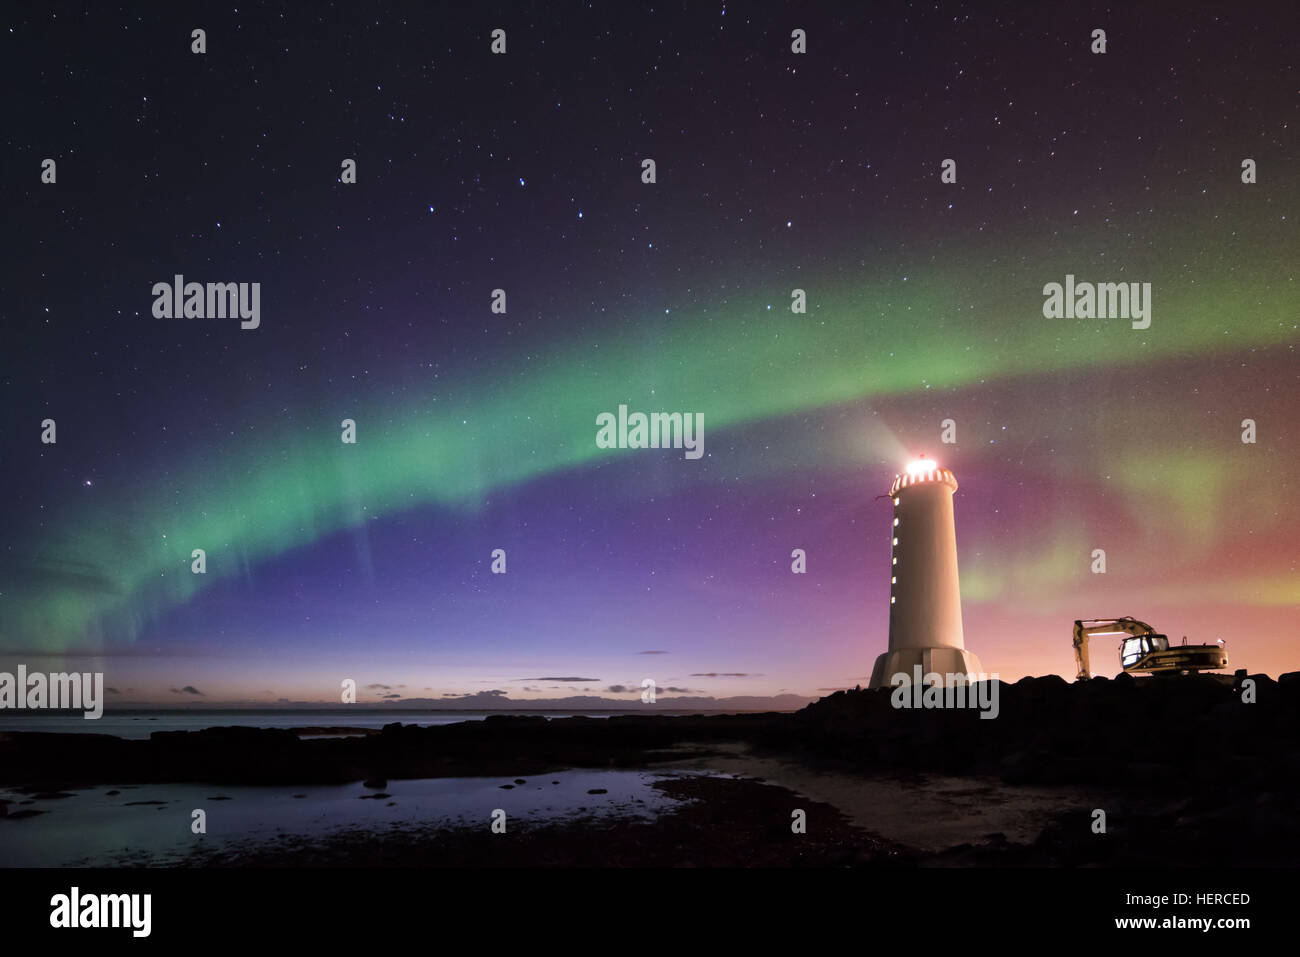
<svg viewBox="0 0 1300 957"><path fill-rule="evenodd" d="M230 853L358 828L486 830L498 807L511 820L529 822L564 820L577 813L650 818L676 804L653 788L654 781L693 774L699 772L567 770L528 779L429 778L391 780L384 792L360 783L298 788L105 784L31 798L0 788L0 798L13 802L10 811L40 811L0 819L0 867L156 866L199 848ZM378 793L384 797L373 800ZM196 807L207 814L208 831L202 836L191 830Z"/></svg>

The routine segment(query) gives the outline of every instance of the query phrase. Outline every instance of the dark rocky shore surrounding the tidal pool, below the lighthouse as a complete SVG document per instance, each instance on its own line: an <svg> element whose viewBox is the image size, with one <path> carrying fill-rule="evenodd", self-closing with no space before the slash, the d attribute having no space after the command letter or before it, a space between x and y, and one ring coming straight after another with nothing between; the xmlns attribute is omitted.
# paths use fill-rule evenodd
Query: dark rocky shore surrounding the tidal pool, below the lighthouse
<svg viewBox="0 0 1300 957"><path fill-rule="evenodd" d="M251 728L156 732L147 741L9 733L0 735L0 784L57 793L124 783L508 781L564 768L671 768L685 759L697 768L711 767L711 759L723 767L738 748L755 761L779 759L819 775L810 780L833 781L836 789L826 787L835 800L811 800L801 784L783 787L788 781L759 775L670 778L655 787L679 802L654 820L520 822L508 840L455 828L356 832L324 843L286 839L196 862L1290 866L1300 859L1300 674L1252 680L1253 701L1243 700L1251 697L1244 688L1213 679L1023 679L998 685L992 720L974 709L896 709L889 692L852 690L794 714L494 715L428 728L390 724L352 737ZM933 805L948 810L926 810L920 798L945 778L970 783L968 797ZM866 806L850 818L841 797L855 789L897 797L859 801ZM1008 809L1035 789L1060 793L1058 806L1023 805L1020 817L1032 819L1020 822L1015 837L988 826L1014 820ZM918 813L936 815L936 827L968 836L927 848L897 840L889 814L897 820L906 813L909 793ZM806 833L792 831L793 807L807 813ZM953 819L940 822L942 815Z"/></svg>

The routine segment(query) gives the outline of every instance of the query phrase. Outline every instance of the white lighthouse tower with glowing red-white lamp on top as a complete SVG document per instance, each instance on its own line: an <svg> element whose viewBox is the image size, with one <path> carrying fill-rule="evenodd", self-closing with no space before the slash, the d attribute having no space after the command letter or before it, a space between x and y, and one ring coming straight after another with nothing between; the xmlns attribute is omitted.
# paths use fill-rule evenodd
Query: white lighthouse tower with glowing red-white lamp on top
<svg viewBox="0 0 1300 957"><path fill-rule="evenodd" d="M893 557L889 568L889 650L876 658L871 688L890 688L896 675L911 684L920 674L979 674L979 658L962 640L962 598L957 585L957 478L922 455L894 478Z"/></svg>

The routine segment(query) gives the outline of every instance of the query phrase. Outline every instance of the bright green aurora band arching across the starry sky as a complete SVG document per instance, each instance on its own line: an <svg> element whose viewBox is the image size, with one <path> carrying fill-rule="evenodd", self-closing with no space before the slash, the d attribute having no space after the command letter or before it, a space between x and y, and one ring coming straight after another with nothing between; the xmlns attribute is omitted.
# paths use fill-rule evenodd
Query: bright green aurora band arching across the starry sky
<svg viewBox="0 0 1300 957"><path fill-rule="evenodd" d="M644 411L699 411L706 437L715 438L723 429L837 403L1294 343L1291 276L1244 263L1217 282L1184 281L1223 273L1223 261L1222 250L1210 250L1178 259L1188 265L1176 276L1152 269L1144 277L1154 281L1147 330L1118 319L1041 315L1044 282L1060 282L1066 272L1080 280L1141 276L1131 267L1121 274L1022 265L1023 281L988 265L913 269L906 281L900 273L872 282L859 272L852 282L801 281L809 290L806 316L790 315L789 289L770 289L766 296L715 303L707 315L675 309L654 328L653 346L640 334L588 337L549 356L502 358L490 377L481 368L459 384L443 377L428 398L406 407L339 403L312 410L309 428L269 417L254 424L256 438L229 441L202 460L172 467L166 477L144 478L130 495L69 508L39 540L16 547L26 560L21 572L9 572L17 580L4 583L0 649L57 653L133 640L205 583L342 529L416 507L474 510L494 489L625 455L594 441L595 416L620 402ZM358 423L355 446L339 442L344 417ZM901 445L880 432L875 454L894 458ZM823 450L816 464L864 459L867 451ZM1196 490L1223 481L1221 469L1188 462L1186 445L1173 437L1141 454L1147 463L1162 458L1176 460L1191 485L1135 477L1132 492L1166 497L1173 516L1190 519ZM692 481L690 464L684 463L682 481ZM790 459L788 467L807 460ZM1114 463L1109 468L1128 473ZM727 472L737 475L733 463ZM195 547L207 550L207 576L190 572ZM994 586L970 583L976 592Z"/></svg>

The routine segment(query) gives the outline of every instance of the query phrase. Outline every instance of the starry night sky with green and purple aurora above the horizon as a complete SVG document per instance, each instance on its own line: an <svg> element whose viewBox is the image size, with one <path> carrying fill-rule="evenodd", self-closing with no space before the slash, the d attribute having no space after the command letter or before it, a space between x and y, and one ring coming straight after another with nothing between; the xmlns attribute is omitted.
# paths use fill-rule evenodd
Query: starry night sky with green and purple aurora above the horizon
<svg viewBox="0 0 1300 957"><path fill-rule="evenodd" d="M987 671L1072 677L1117 615L1300 668L1292 4L464 7L4 12L0 668L864 685L919 452ZM260 326L156 319L177 273ZM1067 274L1150 326L1044 317ZM619 404L703 458L597 447Z"/></svg>

